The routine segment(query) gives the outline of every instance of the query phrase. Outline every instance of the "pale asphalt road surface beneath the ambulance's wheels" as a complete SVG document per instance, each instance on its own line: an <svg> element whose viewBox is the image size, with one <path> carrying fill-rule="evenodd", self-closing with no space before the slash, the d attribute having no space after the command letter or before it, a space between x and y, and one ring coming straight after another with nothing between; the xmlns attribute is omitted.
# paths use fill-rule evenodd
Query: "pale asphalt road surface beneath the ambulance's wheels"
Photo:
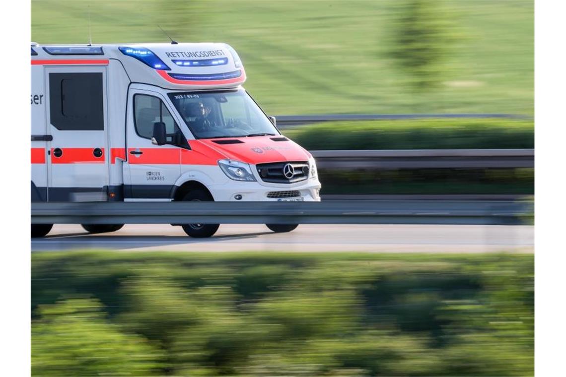
<svg viewBox="0 0 566 377"><path fill-rule="evenodd" d="M273 233L263 225L225 224L209 239L191 239L181 227L128 224L118 232L89 235L79 225L55 225L33 252L114 249L179 252L520 252L533 253L533 226L495 225L300 225Z"/></svg>

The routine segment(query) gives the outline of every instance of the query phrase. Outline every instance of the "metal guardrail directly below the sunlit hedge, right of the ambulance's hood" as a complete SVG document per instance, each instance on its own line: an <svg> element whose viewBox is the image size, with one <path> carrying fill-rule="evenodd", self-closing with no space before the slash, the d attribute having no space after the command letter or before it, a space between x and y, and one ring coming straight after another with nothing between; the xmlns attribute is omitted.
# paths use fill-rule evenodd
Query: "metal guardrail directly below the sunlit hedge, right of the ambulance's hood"
<svg viewBox="0 0 566 377"><path fill-rule="evenodd" d="M320 169L534 167L534 149L313 150Z"/></svg>

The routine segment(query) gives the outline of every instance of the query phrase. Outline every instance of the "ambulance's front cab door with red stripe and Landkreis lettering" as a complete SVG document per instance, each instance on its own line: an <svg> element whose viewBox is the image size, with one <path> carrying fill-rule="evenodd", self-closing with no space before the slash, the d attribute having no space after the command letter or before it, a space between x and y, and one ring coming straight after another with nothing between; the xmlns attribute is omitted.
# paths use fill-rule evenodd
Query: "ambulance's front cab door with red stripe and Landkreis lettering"
<svg viewBox="0 0 566 377"><path fill-rule="evenodd" d="M128 94L126 131L127 163L124 197L130 201L169 201L181 176L181 149L188 143L171 115L165 98L151 90L132 89ZM152 144L153 126L165 123L167 142Z"/></svg>

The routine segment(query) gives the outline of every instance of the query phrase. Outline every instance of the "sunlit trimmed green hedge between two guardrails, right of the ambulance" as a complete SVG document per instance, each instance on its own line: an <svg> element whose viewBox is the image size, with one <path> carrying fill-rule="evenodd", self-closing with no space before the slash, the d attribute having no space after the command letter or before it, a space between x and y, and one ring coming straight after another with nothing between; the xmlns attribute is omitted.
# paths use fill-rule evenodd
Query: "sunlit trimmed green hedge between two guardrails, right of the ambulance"
<svg viewBox="0 0 566 377"><path fill-rule="evenodd" d="M534 148L533 120L517 119L328 122L282 133L308 150Z"/></svg>

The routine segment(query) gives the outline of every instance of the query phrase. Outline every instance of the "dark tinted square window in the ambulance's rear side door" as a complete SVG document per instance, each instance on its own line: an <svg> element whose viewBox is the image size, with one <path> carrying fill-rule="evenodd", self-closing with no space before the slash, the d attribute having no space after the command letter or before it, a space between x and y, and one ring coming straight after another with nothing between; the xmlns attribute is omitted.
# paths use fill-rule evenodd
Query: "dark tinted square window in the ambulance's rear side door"
<svg viewBox="0 0 566 377"><path fill-rule="evenodd" d="M50 121L62 131L104 129L102 73L49 73Z"/></svg>

